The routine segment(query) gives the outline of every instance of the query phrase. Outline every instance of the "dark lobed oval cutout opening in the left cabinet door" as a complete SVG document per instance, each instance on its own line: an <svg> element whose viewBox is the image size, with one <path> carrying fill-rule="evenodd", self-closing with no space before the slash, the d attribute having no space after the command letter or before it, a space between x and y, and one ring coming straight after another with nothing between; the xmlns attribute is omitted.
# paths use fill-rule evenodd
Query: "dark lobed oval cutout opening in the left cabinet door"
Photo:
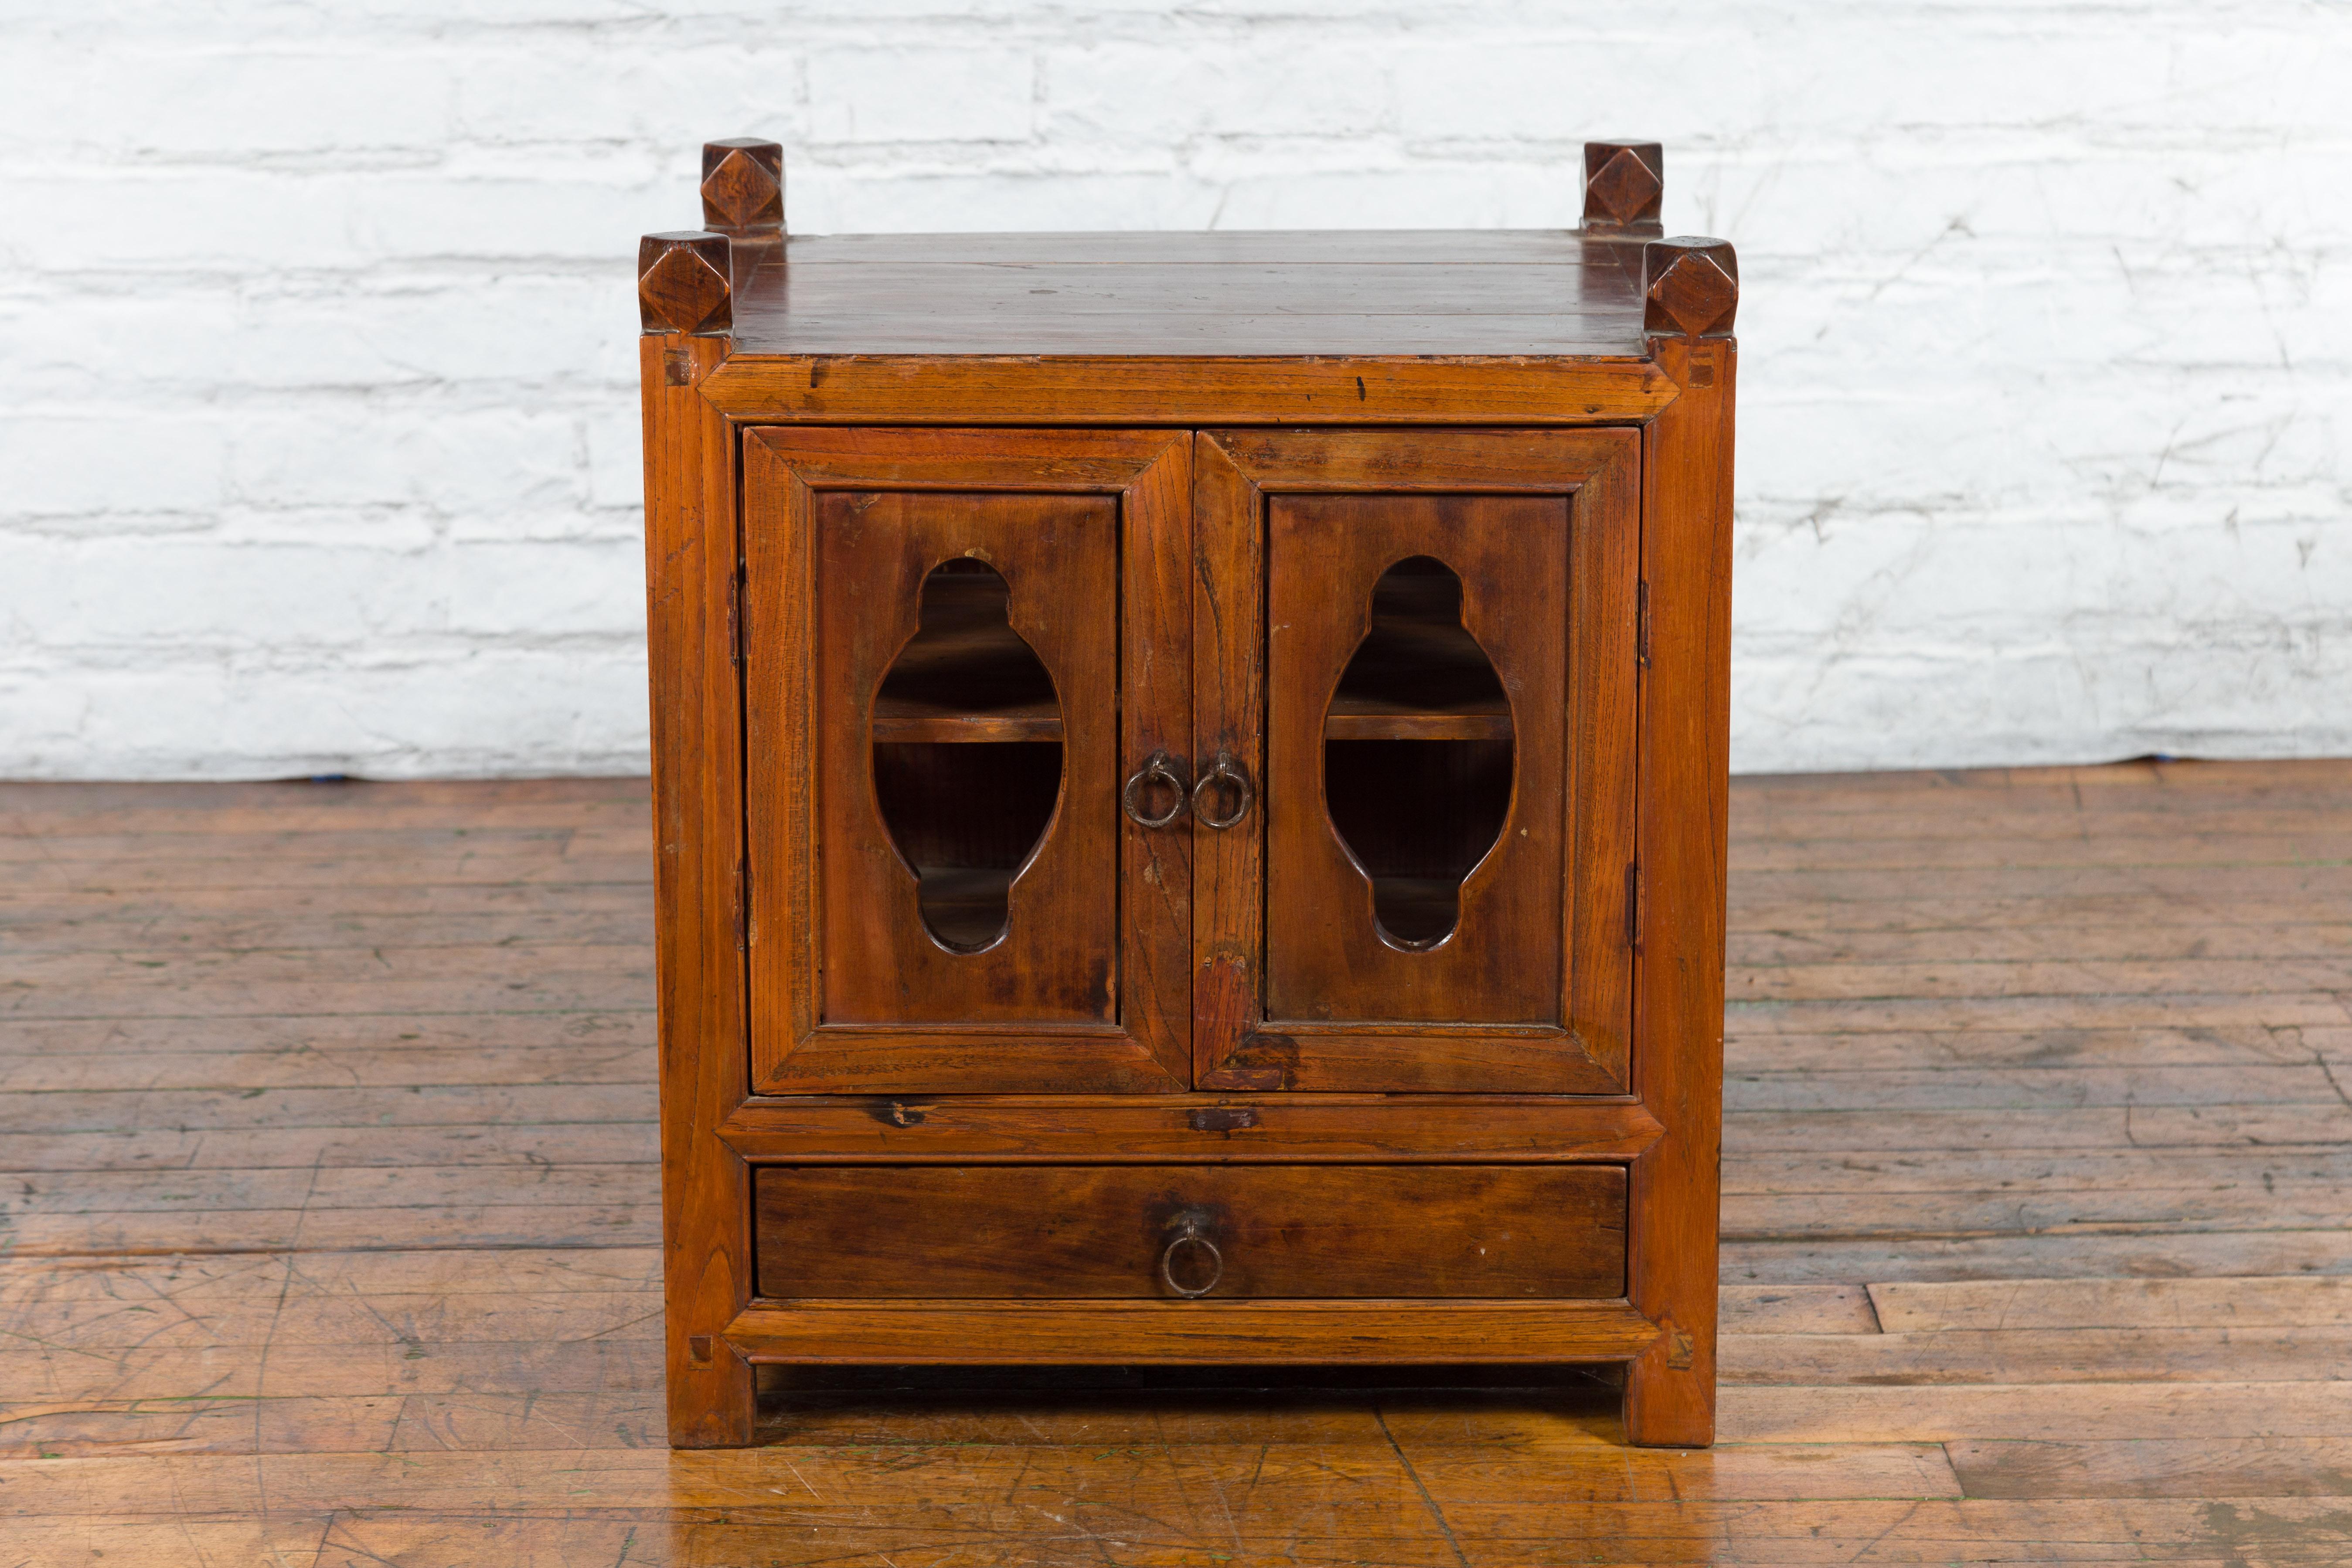
<svg viewBox="0 0 2352 1568"><path fill-rule="evenodd" d="M875 804L948 952L1004 940L1011 886L1061 799L1061 703L1009 597L985 562L934 567L920 630L875 696Z"/></svg>

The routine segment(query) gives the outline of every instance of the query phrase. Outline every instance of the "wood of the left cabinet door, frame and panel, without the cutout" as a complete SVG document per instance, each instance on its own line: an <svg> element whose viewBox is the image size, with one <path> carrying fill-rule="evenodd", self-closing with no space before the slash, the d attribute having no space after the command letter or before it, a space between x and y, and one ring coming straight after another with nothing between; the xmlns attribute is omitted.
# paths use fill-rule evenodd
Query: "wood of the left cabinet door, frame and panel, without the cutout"
<svg viewBox="0 0 2352 1568"><path fill-rule="evenodd" d="M1164 564L1183 559L1188 456L1183 437L1150 430L746 437L746 943L762 1091L1185 1084L1185 835L1117 811L1145 755L1188 750L1183 663L1136 656L1138 637L1190 618L1188 583ZM858 548L896 576L858 578ZM915 882L877 818L866 708L915 632L915 583L967 550L1018 578L1014 632L1061 684L1063 790L1014 882L1004 945L957 954L915 922ZM891 637L873 630L891 623ZM1167 651L1181 656L1181 635Z"/></svg>

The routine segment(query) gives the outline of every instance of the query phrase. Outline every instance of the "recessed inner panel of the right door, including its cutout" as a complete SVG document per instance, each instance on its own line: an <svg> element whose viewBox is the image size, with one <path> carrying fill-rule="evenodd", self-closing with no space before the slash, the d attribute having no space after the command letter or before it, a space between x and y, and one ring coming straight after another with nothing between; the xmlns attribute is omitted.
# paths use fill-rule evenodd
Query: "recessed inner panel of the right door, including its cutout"
<svg viewBox="0 0 2352 1568"><path fill-rule="evenodd" d="M1564 496L1268 503L1265 1009L1559 1023Z"/></svg>

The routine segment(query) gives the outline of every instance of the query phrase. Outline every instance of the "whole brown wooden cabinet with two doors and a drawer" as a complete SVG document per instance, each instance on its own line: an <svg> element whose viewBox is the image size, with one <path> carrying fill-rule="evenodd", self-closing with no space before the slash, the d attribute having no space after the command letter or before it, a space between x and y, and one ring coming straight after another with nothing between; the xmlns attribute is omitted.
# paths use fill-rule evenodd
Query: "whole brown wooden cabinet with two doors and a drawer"
<svg viewBox="0 0 2352 1568"><path fill-rule="evenodd" d="M1705 1443L1731 249L640 252L670 1434L793 1361L1618 1361Z"/></svg>

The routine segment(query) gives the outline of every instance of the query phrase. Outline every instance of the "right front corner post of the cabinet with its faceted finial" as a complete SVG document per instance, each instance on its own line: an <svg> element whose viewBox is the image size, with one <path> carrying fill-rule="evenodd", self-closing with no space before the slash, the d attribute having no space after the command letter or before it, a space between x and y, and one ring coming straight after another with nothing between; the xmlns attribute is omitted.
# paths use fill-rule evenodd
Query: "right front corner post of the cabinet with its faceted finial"
<svg viewBox="0 0 2352 1568"><path fill-rule="evenodd" d="M1625 1368L1625 1434L1696 1448L1715 1441L1738 261L1722 240L1651 240L1642 287L1649 355L1682 395L1642 433L1635 1091L1665 1133L1632 1164L1630 1291L1661 1335Z"/></svg>

